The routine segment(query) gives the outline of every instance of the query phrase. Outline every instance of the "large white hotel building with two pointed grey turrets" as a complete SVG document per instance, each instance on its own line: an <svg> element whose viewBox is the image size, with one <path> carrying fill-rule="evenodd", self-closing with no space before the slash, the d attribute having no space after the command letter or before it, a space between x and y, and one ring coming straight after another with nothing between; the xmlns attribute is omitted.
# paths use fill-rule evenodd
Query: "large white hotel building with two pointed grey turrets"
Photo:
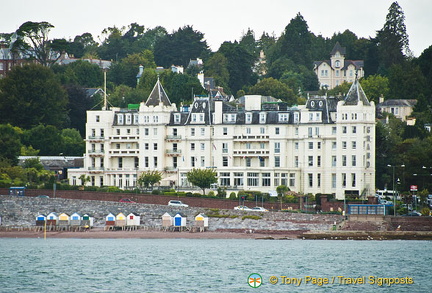
<svg viewBox="0 0 432 293"><path fill-rule="evenodd" d="M279 185L338 199L374 193L375 105L357 80L343 100L313 97L293 108L241 100L197 98L177 109L158 81L139 107L88 111L84 168L69 169L69 182L85 174L88 185L129 189L158 170L161 185L186 188L191 169L214 168L227 194Z"/></svg>

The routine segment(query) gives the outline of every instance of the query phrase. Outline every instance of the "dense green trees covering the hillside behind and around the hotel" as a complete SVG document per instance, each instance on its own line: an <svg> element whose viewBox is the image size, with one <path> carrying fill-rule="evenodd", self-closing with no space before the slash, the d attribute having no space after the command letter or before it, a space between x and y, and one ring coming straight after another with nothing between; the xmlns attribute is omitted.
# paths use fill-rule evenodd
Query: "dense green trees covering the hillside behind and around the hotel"
<svg viewBox="0 0 432 293"><path fill-rule="evenodd" d="M194 94L207 94L197 78L200 71L236 98L243 94L271 95L291 106L310 91L329 95L347 92L349 84L328 92L319 89L313 72L313 61L328 60L339 42L346 47L346 59L364 60L366 76L361 84L371 101L378 103L380 97L418 100L413 113L415 125L407 126L392 115L388 124L377 123L377 187L391 184L388 164L406 166L397 171L405 190L411 183L432 187L423 176L432 166L431 136L424 129L425 124L432 123L432 46L418 58L413 56L404 12L397 2L390 5L382 28L370 38L359 38L349 30L335 32L330 38L316 35L298 13L280 36L263 32L257 38L249 28L238 41L224 42L215 52L210 51L204 33L189 25L171 33L160 26L147 28L137 23L108 27L100 41L90 33L73 40L50 39L52 29L54 25L48 22L26 22L16 32L0 34L0 42L10 46L14 56L22 52L38 63L15 66L0 80L3 165L16 165L19 154L84 152L86 111L102 105L101 91L93 95L87 89L102 88L104 72L87 61L55 64L63 54L112 61L106 74L107 92L109 103L116 107L145 101L158 77L176 104L190 101ZM204 65L189 67L189 62L198 58ZM172 65L183 66L184 73L172 73ZM165 69L156 72L157 66Z"/></svg>

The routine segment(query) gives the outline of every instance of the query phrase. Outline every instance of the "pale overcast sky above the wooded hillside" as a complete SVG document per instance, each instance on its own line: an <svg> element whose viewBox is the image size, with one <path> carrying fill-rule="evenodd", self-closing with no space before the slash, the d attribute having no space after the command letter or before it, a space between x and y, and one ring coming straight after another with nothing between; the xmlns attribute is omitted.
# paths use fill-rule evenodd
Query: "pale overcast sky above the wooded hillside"
<svg viewBox="0 0 432 293"><path fill-rule="evenodd" d="M393 1L388 0L14 0L2 1L0 32L15 31L26 21L55 26L50 38L73 39L89 32L96 41L104 28L163 26L168 32L185 25L204 33L216 51L222 42L239 40L251 28L279 37L300 12L315 35L331 37L351 30L358 37L375 36ZM432 1L399 0L405 13L410 48L415 56L432 45ZM343 45L343 44L342 44Z"/></svg>

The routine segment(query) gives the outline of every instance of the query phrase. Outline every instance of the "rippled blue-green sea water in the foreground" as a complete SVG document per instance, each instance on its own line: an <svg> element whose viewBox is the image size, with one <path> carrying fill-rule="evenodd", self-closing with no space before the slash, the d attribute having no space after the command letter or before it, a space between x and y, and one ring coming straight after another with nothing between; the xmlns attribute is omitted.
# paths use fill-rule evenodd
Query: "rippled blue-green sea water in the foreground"
<svg viewBox="0 0 432 293"><path fill-rule="evenodd" d="M431 241L0 239L0 292L431 292Z"/></svg>

